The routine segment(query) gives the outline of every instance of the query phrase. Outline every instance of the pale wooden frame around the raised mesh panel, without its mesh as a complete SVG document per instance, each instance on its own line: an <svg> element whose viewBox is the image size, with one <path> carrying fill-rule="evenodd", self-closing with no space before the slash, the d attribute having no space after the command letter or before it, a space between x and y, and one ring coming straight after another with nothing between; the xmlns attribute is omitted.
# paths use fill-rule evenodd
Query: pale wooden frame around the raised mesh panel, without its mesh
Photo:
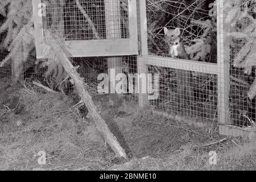
<svg viewBox="0 0 256 182"><path fill-rule="evenodd" d="M92 56L125 56L138 54L137 7L136 1L129 4L129 39L112 40L75 40L66 41L68 50L73 57ZM38 15L41 0L33 0L33 16L35 26L36 57L42 59L45 45L43 43L43 18Z"/></svg>

